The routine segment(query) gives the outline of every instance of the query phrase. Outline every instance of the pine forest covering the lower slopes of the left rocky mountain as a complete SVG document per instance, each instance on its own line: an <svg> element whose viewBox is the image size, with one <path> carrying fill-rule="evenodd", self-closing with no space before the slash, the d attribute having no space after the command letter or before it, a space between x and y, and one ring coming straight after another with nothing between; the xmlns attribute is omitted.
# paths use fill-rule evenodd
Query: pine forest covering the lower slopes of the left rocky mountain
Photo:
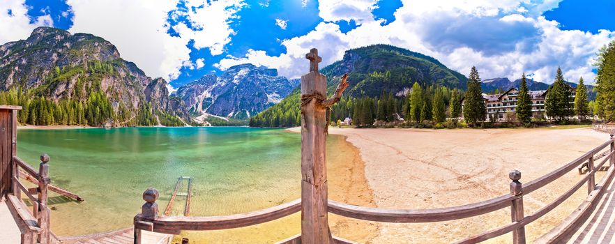
<svg viewBox="0 0 615 244"><path fill-rule="evenodd" d="M121 102L114 109L100 87L105 75L116 75L113 67L112 61L93 61L86 69L81 66L56 67L45 83L36 89L24 90L19 87L0 91L0 105L22 106L18 120L30 125L102 126L105 123L116 123L124 126L150 126L158 125L158 121L167 126L184 125L177 116L166 112L153 112L149 104L140 107L136 112L131 112ZM74 77L77 77L77 82L70 98L54 101L53 95L47 93L49 86Z"/></svg>

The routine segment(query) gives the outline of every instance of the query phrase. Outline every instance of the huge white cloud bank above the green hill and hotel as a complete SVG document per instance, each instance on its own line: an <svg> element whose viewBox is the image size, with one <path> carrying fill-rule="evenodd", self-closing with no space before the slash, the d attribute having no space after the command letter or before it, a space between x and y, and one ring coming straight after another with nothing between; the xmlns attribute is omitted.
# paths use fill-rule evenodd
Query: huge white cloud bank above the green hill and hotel
<svg viewBox="0 0 615 244"><path fill-rule="evenodd" d="M615 38L615 31L561 30L557 22L545 20L542 12L557 8L559 0L407 0L395 12L396 20L385 26L368 13L373 1L357 0L355 10L346 12L340 11L346 8L344 3L338 2L321 1L320 16L326 21L356 20L360 26L342 33L337 24L323 22L304 36L283 40L284 54L250 50L243 57L222 60L217 67L255 63L299 77L307 72L305 53L312 47L319 49L324 67L342 59L344 50L388 43L434 56L465 75L476 66L483 78L516 79L525 72L551 83L561 66L565 79L577 82L583 76L590 83L595 77L591 66L595 53Z"/></svg>

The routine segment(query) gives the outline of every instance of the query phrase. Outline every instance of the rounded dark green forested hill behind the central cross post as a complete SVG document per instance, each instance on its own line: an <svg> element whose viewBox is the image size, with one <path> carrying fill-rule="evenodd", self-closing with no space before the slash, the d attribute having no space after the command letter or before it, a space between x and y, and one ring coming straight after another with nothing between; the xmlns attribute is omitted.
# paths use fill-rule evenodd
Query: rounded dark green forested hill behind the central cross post
<svg viewBox="0 0 615 244"><path fill-rule="evenodd" d="M444 86L466 89L467 78L442 63L418 52L392 45L370 45L350 49L344 58L320 72L327 77L327 93L331 95L344 73L349 86L344 99L377 98L383 93L404 98L414 82L421 86ZM299 125L299 90L293 91L277 105L250 119L250 126L291 127Z"/></svg>

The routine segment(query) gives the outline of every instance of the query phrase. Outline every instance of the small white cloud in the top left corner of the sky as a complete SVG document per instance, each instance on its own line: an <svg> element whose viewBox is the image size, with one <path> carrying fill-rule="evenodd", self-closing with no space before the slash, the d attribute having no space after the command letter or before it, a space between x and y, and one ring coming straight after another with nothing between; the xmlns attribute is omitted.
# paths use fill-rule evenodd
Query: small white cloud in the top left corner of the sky
<svg viewBox="0 0 615 244"><path fill-rule="evenodd" d="M10 12L10 14L9 14ZM15 40L23 40L38 26L53 26L50 15L41 15L30 24L28 6L25 0L0 1L0 45Z"/></svg>

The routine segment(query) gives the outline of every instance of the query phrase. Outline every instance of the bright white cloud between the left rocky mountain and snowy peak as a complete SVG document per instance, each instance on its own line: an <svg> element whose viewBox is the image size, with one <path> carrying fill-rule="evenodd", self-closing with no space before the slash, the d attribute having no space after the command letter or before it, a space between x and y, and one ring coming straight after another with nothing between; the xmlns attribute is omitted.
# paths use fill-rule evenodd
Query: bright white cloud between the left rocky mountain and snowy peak
<svg viewBox="0 0 615 244"><path fill-rule="evenodd" d="M97 1L68 0L73 9L71 33L92 33L116 45L123 59L137 63L147 75L176 79L180 69L194 68L190 61L188 43L194 40L197 49L208 48L211 54L221 54L231 41L234 31L229 24L236 11L243 6L239 0L188 0L185 15L195 28L179 22L169 26L167 13L174 10L177 1ZM192 7L195 7L192 10ZM179 36L171 36L172 28ZM197 63L198 66L198 63Z"/></svg>

